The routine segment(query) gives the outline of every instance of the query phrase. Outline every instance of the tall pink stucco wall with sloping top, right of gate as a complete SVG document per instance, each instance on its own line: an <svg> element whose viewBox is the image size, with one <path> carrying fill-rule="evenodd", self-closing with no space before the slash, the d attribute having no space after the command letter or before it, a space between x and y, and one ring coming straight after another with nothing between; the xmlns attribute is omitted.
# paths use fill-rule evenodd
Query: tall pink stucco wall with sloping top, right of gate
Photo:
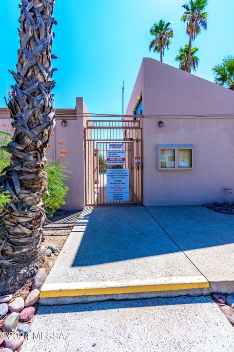
<svg viewBox="0 0 234 352"><path fill-rule="evenodd" d="M234 118L223 115L234 114L234 92L148 58L142 62L126 114L133 112L141 92L144 204L226 201L224 188L234 191ZM209 114L219 116L195 117ZM163 128L158 128L159 120ZM157 144L195 145L194 169L157 170Z"/></svg>

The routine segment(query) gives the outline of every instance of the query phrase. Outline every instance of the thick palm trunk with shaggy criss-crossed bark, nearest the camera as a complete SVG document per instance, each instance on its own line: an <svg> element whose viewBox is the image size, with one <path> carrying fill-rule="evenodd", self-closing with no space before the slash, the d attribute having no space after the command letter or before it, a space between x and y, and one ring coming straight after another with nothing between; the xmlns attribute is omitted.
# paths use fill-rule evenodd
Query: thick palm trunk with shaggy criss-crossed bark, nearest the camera
<svg viewBox="0 0 234 352"><path fill-rule="evenodd" d="M55 126L54 6L55 0L21 0L20 4L17 72L10 71L16 83L6 100L15 131L13 140L3 147L12 156L0 177L0 191L11 195L0 218L1 293L14 292L35 273L41 260L42 196L48 186L45 152Z"/></svg>

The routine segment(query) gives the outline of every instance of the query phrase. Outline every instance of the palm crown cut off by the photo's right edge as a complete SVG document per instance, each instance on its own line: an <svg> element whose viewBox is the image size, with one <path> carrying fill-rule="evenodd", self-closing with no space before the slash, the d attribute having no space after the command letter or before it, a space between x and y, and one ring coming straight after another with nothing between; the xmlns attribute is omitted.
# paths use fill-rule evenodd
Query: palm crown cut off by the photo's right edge
<svg viewBox="0 0 234 352"><path fill-rule="evenodd" d="M234 90L234 56L225 57L220 65L212 68L212 71L215 74L215 83Z"/></svg>

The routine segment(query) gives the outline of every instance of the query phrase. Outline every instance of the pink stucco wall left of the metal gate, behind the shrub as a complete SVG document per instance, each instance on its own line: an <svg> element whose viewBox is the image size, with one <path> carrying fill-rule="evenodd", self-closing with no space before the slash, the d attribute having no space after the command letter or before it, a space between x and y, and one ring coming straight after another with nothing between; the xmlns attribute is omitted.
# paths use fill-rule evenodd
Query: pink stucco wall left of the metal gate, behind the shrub
<svg viewBox="0 0 234 352"><path fill-rule="evenodd" d="M82 112L87 112L84 100L78 97L76 109L56 110L57 124L54 129L54 136L50 138L51 147L47 149L47 155L52 160L58 160L61 149L68 150L69 155L62 159L62 163L72 172L66 181L69 187L66 205L63 209L79 210L85 206L84 193L84 125L86 117ZM5 118L6 117L6 118ZM66 120L67 126L62 127L61 121ZM0 130L6 131L2 124L9 124L8 132L11 132L8 109L0 109ZM64 143L60 144L59 140Z"/></svg>

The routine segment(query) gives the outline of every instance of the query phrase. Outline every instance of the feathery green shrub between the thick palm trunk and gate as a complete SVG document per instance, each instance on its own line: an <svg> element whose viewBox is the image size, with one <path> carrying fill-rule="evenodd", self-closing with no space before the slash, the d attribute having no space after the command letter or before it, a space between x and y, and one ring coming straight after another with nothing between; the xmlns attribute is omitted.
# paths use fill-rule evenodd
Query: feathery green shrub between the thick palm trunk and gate
<svg viewBox="0 0 234 352"><path fill-rule="evenodd" d="M52 161L51 165L47 164L45 170L49 186L48 195L45 194L43 196L43 201L45 203L46 214L53 217L57 209L59 209L61 205L66 204L64 199L69 188L65 185L64 181L69 178L66 174L70 174L71 172L57 161Z"/></svg>

